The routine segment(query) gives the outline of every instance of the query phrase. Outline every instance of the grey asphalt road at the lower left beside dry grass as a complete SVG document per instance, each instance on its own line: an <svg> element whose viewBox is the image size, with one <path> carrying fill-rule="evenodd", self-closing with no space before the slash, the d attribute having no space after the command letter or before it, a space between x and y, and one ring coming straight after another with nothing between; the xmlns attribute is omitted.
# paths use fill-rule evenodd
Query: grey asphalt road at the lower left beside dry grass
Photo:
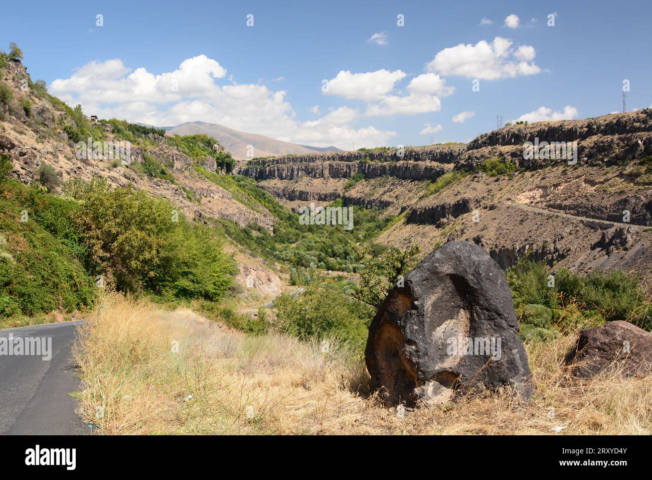
<svg viewBox="0 0 652 480"><path fill-rule="evenodd" d="M0 339L52 338L52 358L0 352L0 435L83 435L68 394L79 388L70 347L80 321L0 330ZM0 340L1 342L2 340ZM47 340L46 340L47 342Z"/></svg>

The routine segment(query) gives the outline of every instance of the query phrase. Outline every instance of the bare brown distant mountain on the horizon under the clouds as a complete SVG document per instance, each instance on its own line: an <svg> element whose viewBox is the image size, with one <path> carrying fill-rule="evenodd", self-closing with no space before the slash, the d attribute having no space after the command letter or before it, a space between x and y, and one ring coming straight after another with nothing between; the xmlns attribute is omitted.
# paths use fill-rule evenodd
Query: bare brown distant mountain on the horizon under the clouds
<svg viewBox="0 0 652 480"><path fill-rule="evenodd" d="M314 152L331 152L337 151L335 147L310 147L306 145L297 145L282 140L275 140L265 135L257 133L246 133L224 127L218 123L207 123L205 121L190 121L177 125L176 127L166 128L168 133L177 135L193 135L203 133L212 136L227 152L233 155L233 158L243 160L248 157L269 157L273 155L289 155L297 153L314 153ZM248 146L253 146L252 154L248 154Z"/></svg>

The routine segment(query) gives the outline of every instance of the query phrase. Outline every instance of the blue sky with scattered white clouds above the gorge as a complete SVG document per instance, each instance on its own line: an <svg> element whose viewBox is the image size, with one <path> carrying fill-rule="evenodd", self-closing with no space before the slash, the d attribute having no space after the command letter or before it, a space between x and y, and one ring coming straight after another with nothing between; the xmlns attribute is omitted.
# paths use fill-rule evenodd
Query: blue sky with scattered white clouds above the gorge
<svg viewBox="0 0 652 480"><path fill-rule="evenodd" d="M87 114L160 126L213 121L350 149L431 136L466 142L494 129L497 114L620 111L625 79L628 110L652 103L649 1L68 1L2 10L0 43L18 42L33 80Z"/></svg>

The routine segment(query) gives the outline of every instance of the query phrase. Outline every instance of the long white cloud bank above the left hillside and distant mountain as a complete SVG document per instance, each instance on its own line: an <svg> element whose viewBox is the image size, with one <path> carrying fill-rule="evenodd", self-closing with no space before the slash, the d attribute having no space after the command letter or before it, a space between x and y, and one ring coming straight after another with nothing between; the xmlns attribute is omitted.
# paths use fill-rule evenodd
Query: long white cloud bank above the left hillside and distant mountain
<svg viewBox="0 0 652 480"><path fill-rule="evenodd" d="M387 72L403 78L403 72ZM220 84L227 71L218 61L204 55L186 59L179 68L153 74L144 68L127 67L120 59L92 61L57 79L50 92L70 105L81 103L88 114L119 118L149 125L178 125L186 121L207 121L227 127L272 136L279 140L316 146L360 146L385 144L396 135L372 125L353 127L362 118L357 109L340 107L314 121L295 120L295 111L286 101L286 91L263 84ZM381 77L381 84L383 75ZM395 81L395 80L394 80ZM355 83L355 82L354 82ZM391 80L389 89L393 89ZM338 82L335 84L339 88ZM355 85L354 85L355 87ZM379 98L376 89L372 98ZM355 96L355 88L345 88ZM364 96L364 95L361 95ZM319 108L312 112L319 114Z"/></svg>

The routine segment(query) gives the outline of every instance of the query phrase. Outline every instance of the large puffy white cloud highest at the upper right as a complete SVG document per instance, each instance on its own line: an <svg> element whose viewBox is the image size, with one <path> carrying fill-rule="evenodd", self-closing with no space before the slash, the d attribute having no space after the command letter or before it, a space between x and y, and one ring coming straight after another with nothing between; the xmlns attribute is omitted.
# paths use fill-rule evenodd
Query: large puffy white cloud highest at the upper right
<svg viewBox="0 0 652 480"><path fill-rule="evenodd" d="M481 40L475 45L460 43L444 48L426 65L426 70L481 80L514 78L541 72L533 61L535 55L532 46L524 45L515 50L512 40L496 37L491 43Z"/></svg>

